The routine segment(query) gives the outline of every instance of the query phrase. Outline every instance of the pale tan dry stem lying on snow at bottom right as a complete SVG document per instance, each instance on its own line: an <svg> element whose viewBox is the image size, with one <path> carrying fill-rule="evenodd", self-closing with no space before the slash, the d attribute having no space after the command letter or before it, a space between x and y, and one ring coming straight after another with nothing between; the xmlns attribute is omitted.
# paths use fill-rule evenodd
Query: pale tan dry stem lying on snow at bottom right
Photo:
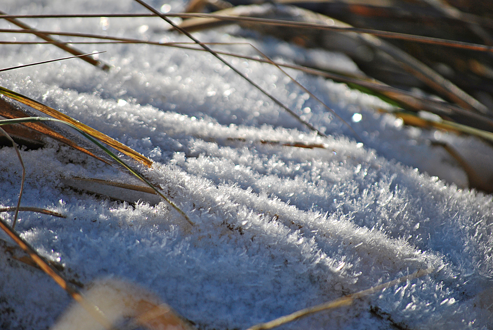
<svg viewBox="0 0 493 330"><path fill-rule="evenodd" d="M299 310L297 312L294 312L294 313L289 314L289 315L286 315L286 316L282 316L282 317L277 318L275 320L272 320L270 322L261 323L261 324L255 325L253 327L248 328L247 330L267 330L267 329L272 329L272 328L279 327L279 326L281 326L283 324L286 324L288 322L294 321L296 319L302 318L304 316L307 316L307 315L310 315L310 314L313 314L313 313L320 312L322 310L327 310L327 309L331 309L331 308L337 308L337 307L341 307L341 306L351 305L352 302L354 301L354 299L358 299L358 298L369 296L371 294L374 294L374 293L379 292L381 290L390 288L390 287L392 287L394 285L397 285L399 283L402 283L402 282L405 282L405 281L410 281L410 280L415 279L415 278L418 278L418 277L422 277L422 276L427 275L427 274L429 274L429 273L431 273L433 271L434 271L433 268L420 269L420 270L418 270L417 272L415 272L413 274L406 275L406 276L400 277L398 279L395 279L393 281L390 281L390 282L387 282L387 283L384 283L384 284L381 284L381 285L377 285L377 286L371 287L370 289L367 289L367 290L359 291L359 292L356 292L356 293L351 294L351 295L347 295L347 296L344 296L344 297L340 297L340 298L331 300L329 302L325 302L325 303L322 303L322 304L319 304L319 305L316 305L316 306L313 306L313 307L309 307L309 308L305 308L305 309Z"/></svg>

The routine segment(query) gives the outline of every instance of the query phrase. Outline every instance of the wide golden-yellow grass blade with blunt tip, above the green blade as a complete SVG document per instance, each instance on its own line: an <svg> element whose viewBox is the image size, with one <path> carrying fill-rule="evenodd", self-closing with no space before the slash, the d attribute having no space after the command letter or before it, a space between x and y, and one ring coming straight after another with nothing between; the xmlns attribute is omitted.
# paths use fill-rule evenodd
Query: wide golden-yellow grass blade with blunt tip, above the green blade
<svg viewBox="0 0 493 330"><path fill-rule="evenodd" d="M100 141L106 143L107 145L115 148L116 150L120 151L121 153L135 159L138 162L141 162L142 164L146 165L147 167L150 167L152 165L152 161L148 159L147 157L139 154L137 151L127 147L121 142L116 141L115 139L107 136L106 134L103 134L102 132L99 132L85 124L82 124L78 120L75 120L66 114L61 113L60 111L57 111L49 106L46 106L42 103L39 103L38 101L35 101L34 99L30 99L28 97L25 97L19 93L13 92L9 89L6 89L4 87L0 86L0 93L5 95L6 97L10 99L14 99L16 101L19 101L21 103L24 103L26 105L29 105L32 108L35 108L36 110L39 110L49 116L52 116L56 119L59 119L63 122L70 123L71 125L75 126L78 130L85 132L91 136L94 136L95 138L99 139Z"/></svg>

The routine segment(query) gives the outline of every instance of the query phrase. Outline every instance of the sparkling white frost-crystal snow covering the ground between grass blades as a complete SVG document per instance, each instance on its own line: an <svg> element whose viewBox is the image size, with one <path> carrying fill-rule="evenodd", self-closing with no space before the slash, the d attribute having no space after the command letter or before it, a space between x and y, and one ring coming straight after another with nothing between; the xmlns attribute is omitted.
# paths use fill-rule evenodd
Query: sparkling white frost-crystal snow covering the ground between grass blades
<svg viewBox="0 0 493 330"><path fill-rule="evenodd" d="M165 2L149 3L161 7ZM171 4L175 11L182 9L181 3ZM2 1L0 9L145 12L121 0L10 0ZM166 24L157 18L115 18L109 25L100 19L25 21L43 30L186 41L163 32ZM284 61L310 55L272 38L232 36L238 29L196 36L255 42L266 50L276 46L283 49ZM16 230L41 254L59 258L67 276L86 284L108 277L138 283L200 329L232 330L434 267L431 275L284 328L492 326L492 199L421 174L467 185L453 160L427 144L433 132L404 128L394 117L379 115L378 108L390 106L380 99L289 71L352 124L364 142L357 144L344 124L275 67L229 59L325 129L330 136L322 139L205 53L145 45L80 48L106 50L101 57L116 68L105 73L70 60L4 72L0 84L153 159L152 169L141 171L166 187L196 225L188 226L164 202L134 207L63 189L61 180L69 176L128 181L128 175L64 146L24 151L22 204L54 208L68 217L21 212ZM243 45L230 49L254 54ZM354 70L349 59L329 55ZM51 45L2 45L0 56L7 67L66 55ZM357 123L354 113L361 114ZM468 137L442 138L476 150L489 148ZM327 149L260 140L324 143ZM0 149L1 205L15 204L20 174L13 150ZM12 220L11 214L2 216ZM70 298L42 272L6 258L0 253L1 327L51 327Z"/></svg>

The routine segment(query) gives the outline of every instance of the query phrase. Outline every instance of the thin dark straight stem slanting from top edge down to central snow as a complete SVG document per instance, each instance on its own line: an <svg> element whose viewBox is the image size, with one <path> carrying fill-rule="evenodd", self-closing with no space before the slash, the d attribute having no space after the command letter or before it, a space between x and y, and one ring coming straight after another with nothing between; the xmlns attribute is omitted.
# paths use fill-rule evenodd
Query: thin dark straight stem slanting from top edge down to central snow
<svg viewBox="0 0 493 330"><path fill-rule="evenodd" d="M178 32L181 32L181 33L185 34L187 37L189 37L190 39L192 39L195 43L197 43L202 48L204 48L206 51L208 51L209 53L211 53L219 61L221 61L222 63L224 63L226 66L229 66L233 71L235 71L236 73L238 73L248 83L250 83L252 86L254 86L256 89L258 89L260 92L262 92L263 94L265 94L269 99L272 99L277 105L279 105L280 107L282 107L284 110L286 110L288 113L290 113L293 117L295 117L300 123L302 123L305 126L307 126L310 130L312 130L314 132L317 132L318 135L324 136L324 137L326 136L323 132L320 132L317 128L315 128L308 121L305 121L305 120L301 119L301 117L298 116L298 114L296 112L294 112L293 110L291 110L288 106L284 105L279 99L277 99L274 96L272 96L269 92L267 92L262 87L260 87L260 85L258 85L253 80L251 80L250 78L248 78L244 73L242 73L240 70L238 70L235 66L233 66L232 64L230 64L228 61L226 61L222 57L220 57L219 54L217 54L215 51L213 51L205 43L201 42L199 39L197 39L196 37L194 37L192 34L190 34L189 32L187 32L185 29L183 29L180 26L176 25L175 22L173 22L172 20L170 20L168 17L166 17L165 15L163 15L161 12L159 12L155 8L149 6L147 3L143 2L142 0L135 0L135 1L139 2L142 6L144 6L148 10L152 11L156 15L159 15L159 17L161 17L168 24L170 24L171 26L173 26L173 28L175 28Z"/></svg>

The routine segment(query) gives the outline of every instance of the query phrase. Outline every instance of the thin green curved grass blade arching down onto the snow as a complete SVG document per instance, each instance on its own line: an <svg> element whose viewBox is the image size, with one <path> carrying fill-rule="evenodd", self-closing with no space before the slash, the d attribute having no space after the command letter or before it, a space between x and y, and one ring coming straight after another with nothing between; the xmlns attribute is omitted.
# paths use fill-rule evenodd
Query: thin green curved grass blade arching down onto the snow
<svg viewBox="0 0 493 330"><path fill-rule="evenodd" d="M183 212L173 201L171 201L169 198L163 195L153 184L151 184L138 170L133 168L130 165L127 165L125 162L123 162L121 159L119 159L115 154L113 154L108 148L106 148L101 142L99 142L95 137L93 137L91 134L79 129L77 126L73 125L70 122L65 122L63 120L59 119L54 119L54 118L48 118L48 117L28 117L28 118L17 118L17 119L6 119L6 120L0 120L0 126L1 125L8 125L8 124L20 124L20 123L26 123L26 122L43 122L43 121L53 121L61 124L65 124L76 130L77 132L81 133L84 135L87 139L89 139L91 142L96 144L98 147L103 149L106 154L108 154L114 161L116 161L118 164L122 165L126 169L128 169L132 174L137 176L139 179L141 179L145 184L147 184L152 190L154 190L159 196L161 196L166 202L168 202L178 213L180 213L185 220L190 224L190 225L195 225L190 218L186 215L185 212ZM143 157L143 156L142 156Z"/></svg>

